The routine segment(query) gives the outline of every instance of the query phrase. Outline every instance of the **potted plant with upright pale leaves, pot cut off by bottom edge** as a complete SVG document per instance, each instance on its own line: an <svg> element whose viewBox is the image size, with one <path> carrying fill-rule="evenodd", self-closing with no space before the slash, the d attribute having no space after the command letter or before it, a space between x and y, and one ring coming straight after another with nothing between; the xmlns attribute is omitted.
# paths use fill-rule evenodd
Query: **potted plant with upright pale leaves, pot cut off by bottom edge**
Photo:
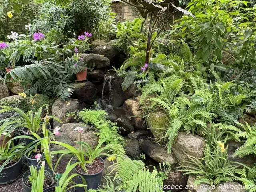
<svg viewBox="0 0 256 192"><path fill-rule="evenodd" d="M43 192L44 189L54 184L54 173L51 169L45 168L45 162L42 161L40 169L29 166L30 170L24 173L22 177L23 192Z"/></svg>

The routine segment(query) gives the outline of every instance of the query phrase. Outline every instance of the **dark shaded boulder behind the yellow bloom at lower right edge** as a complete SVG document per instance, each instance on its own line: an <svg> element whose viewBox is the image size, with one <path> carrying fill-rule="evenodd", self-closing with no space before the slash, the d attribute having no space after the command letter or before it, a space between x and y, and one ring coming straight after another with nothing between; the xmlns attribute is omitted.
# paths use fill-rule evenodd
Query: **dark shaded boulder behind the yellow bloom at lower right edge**
<svg viewBox="0 0 256 192"><path fill-rule="evenodd" d="M239 163L245 164L248 167L252 167L254 165L255 159L254 159L253 155L247 155L242 158L240 158L238 156L233 157L234 152L238 148L243 146L243 143L236 142L236 141L227 141L226 145L228 145L228 160L230 160L232 162L239 162ZM235 165L238 165L238 164L235 164ZM240 168L242 168L242 166L240 166Z"/></svg>

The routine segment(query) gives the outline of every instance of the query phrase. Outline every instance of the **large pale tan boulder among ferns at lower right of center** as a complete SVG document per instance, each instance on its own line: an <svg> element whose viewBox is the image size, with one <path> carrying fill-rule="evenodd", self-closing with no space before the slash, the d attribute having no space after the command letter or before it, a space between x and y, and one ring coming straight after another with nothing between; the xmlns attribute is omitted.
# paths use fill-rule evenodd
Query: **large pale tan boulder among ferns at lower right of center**
<svg viewBox="0 0 256 192"><path fill-rule="evenodd" d="M192 135L189 132L179 132L174 139L172 151L179 162L184 162L188 160L187 155L202 158L204 156L204 144L205 140L200 136Z"/></svg>

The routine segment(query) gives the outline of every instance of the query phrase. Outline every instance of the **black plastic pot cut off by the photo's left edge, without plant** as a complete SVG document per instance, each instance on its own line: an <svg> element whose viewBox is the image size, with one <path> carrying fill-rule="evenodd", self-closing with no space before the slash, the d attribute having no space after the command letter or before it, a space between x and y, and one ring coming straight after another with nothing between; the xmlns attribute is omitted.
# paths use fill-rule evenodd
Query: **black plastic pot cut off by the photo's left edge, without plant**
<svg viewBox="0 0 256 192"><path fill-rule="evenodd" d="M0 184L4 185L16 180L20 176L21 168L21 158L14 165L3 168L2 172L0 173Z"/></svg>

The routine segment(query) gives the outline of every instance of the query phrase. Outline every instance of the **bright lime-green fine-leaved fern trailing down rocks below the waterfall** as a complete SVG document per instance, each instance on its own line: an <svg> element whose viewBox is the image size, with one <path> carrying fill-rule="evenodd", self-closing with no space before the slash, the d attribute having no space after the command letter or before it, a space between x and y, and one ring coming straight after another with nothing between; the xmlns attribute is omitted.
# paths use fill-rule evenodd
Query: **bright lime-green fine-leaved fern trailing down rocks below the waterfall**
<svg viewBox="0 0 256 192"><path fill-rule="evenodd" d="M97 134L100 139L108 138L107 143L123 142L123 138L118 134L117 124L107 120L107 113L104 110L84 109L79 116L86 124L93 125L99 131Z"/></svg>

